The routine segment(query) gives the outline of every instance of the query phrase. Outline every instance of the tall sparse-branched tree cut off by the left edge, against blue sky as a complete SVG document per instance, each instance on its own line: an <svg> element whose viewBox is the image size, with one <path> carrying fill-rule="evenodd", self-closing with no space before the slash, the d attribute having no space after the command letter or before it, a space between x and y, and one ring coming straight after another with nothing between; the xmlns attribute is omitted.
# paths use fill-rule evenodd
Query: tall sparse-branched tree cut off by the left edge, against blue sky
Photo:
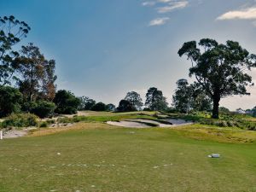
<svg viewBox="0 0 256 192"><path fill-rule="evenodd" d="M0 17L0 85L10 84L15 79L15 59L19 53L13 47L26 38L30 27L24 21L16 20L13 15Z"/></svg>

